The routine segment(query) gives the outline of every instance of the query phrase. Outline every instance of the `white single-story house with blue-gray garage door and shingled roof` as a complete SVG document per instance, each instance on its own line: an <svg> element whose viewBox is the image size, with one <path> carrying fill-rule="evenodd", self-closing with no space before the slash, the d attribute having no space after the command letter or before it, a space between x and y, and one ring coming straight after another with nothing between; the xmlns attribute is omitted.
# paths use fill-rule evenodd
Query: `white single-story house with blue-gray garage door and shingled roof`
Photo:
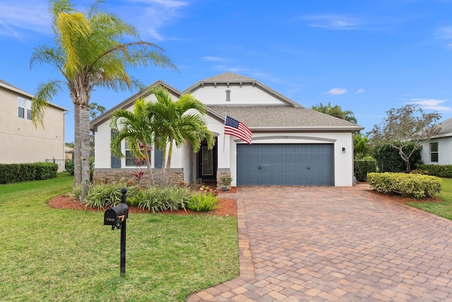
<svg viewBox="0 0 452 302"><path fill-rule="evenodd" d="M206 104L208 128L215 147L202 144L198 153L191 146L174 149L172 181L217 181L231 175L236 185L335 185L353 183L352 132L363 128L325 115L286 98L255 79L227 72L177 91L157 81L91 122L95 133L95 172L99 181L130 180L136 171L126 144L126 158L111 156L109 116L118 108L131 109L136 98L155 85L165 86L174 100L191 93ZM155 100L153 95L148 100ZM225 115L239 120L253 132L252 144L224 134ZM160 151L151 151L151 164L159 174ZM143 168L145 171L145 168ZM158 176L157 176L158 178Z"/></svg>

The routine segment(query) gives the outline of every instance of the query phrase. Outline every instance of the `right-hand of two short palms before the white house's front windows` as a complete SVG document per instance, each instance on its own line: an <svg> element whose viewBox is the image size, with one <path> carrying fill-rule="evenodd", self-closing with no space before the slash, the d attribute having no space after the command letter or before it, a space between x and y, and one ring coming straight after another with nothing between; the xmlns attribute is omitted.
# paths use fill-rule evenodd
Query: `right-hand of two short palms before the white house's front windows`
<svg viewBox="0 0 452 302"><path fill-rule="evenodd" d="M162 185L165 186L169 182L173 144L180 148L189 141L193 151L198 152L203 139L212 149L215 137L203 117L206 107L193 95L186 93L174 101L162 86L153 88L152 93L157 100L150 103L149 114L153 115L158 125L155 129L155 145L163 151Z"/></svg>

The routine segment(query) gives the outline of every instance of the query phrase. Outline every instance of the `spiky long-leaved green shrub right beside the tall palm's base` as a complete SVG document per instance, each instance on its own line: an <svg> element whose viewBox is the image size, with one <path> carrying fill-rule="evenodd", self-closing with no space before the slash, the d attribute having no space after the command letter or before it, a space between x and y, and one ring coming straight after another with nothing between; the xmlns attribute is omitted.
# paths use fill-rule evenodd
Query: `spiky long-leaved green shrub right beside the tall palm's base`
<svg viewBox="0 0 452 302"><path fill-rule="evenodd" d="M83 200L85 207L105 209L107 207L113 207L121 203L121 188L126 187L121 182L114 184L99 184L93 185L88 190L88 194ZM138 194L138 188L129 186L127 188L127 203L129 200L135 198ZM74 192L76 189L74 188Z"/></svg>

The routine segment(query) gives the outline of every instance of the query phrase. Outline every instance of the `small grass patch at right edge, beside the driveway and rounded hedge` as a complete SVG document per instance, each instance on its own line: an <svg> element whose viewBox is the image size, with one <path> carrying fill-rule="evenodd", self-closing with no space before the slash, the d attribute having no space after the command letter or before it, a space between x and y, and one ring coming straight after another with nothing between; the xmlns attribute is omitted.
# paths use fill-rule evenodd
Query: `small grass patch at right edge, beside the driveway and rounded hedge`
<svg viewBox="0 0 452 302"><path fill-rule="evenodd" d="M443 199L444 202L410 202L407 204L411 207L452 220L452 179L441 179L443 180L441 193L436 196Z"/></svg>

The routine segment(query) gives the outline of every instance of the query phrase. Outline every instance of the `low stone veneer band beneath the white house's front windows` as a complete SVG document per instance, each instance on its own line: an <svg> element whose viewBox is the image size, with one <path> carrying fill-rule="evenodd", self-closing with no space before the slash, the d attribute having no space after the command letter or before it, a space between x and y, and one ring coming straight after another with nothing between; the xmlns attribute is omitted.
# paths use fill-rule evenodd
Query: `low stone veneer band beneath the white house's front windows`
<svg viewBox="0 0 452 302"><path fill-rule="evenodd" d="M141 177L140 185L145 187L150 187L150 180L148 172L143 170L144 174ZM137 182L135 170L94 170L93 172L93 182L109 183L109 182L126 182L135 183ZM153 171L155 184L160 184L162 182L162 171ZM184 171L171 171L169 172L169 183L171 185L177 185L184 181Z"/></svg>

